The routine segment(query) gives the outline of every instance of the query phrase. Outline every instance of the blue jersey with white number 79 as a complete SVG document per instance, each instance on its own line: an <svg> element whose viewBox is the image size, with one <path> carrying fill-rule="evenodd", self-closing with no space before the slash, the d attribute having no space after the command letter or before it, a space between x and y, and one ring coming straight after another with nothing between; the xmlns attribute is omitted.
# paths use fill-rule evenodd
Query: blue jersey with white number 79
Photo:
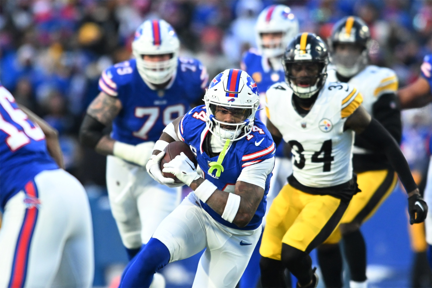
<svg viewBox="0 0 432 288"><path fill-rule="evenodd" d="M149 88L135 59L109 67L99 79L99 89L117 97L123 107L113 120L111 137L132 145L157 141L165 126L184 115L207 86L206 68L196 59L179 57L175 79L163 90Z"/></svg>

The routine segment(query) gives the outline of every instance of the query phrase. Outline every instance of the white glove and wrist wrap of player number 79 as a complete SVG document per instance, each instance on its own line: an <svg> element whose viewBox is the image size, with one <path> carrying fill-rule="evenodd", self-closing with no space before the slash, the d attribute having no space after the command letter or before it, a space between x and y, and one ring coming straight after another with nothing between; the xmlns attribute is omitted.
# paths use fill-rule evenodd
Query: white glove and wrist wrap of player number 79
<svg viewBox="0 0 432 288"><path fill-rule="evenodd" d="M145 166L152 155L153 146L155 146L155 142L152 141L138 145L116 141L114 142L113 155L140 166Z"/></svg>

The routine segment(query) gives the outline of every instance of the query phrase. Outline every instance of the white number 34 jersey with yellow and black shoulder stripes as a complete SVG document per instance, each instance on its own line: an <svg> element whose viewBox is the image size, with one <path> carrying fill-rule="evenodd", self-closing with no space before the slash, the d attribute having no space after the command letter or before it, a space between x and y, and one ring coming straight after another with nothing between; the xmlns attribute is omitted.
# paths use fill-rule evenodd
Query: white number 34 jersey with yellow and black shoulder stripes
<svg viewBox="0 0 432 288"><path fill-rule="evenodd" d="M326 81L309 113L302 117L285 82L267 90L267 117L292 147L294 177L309 187L330 187L353 177L354 132L346 118L362 103L351 85Z"/></svg>

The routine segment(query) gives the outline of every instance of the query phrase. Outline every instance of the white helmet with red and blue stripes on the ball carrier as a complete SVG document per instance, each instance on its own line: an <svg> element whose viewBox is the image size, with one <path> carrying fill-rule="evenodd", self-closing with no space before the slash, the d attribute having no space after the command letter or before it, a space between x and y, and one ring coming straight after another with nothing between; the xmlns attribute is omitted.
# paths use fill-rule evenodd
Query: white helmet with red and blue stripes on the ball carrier
<svg viewBox="0 0 432 288"><path fill-rule="evenodd" d="M204 95L204 102L207 109L206 125L222 143L225 143L226 139L237 141L251 133L259 105L259 94L257 84L245 71L227 69L216 75ZM240 123L217 120L214 117L216 106L241 114L245 120ZM221 124L232 129L224 129Z"/></svg>

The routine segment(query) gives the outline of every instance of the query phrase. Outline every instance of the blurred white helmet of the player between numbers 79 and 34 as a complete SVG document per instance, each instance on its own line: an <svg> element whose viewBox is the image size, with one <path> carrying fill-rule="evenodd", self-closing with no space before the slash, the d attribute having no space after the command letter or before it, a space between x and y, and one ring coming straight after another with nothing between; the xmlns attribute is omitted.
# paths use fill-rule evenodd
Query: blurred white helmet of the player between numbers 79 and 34
<svg viewBox="0 0 432 288"><path fill-rule="evenodd" d="M272 5L261 11L255 25L258 50L266 57L278 57L285 51L289 41L299 33L299 21L291 13L291 9L285 5ZM270 44L270 48L264 47L261 33L282 32L281 41Z"/></svg>

